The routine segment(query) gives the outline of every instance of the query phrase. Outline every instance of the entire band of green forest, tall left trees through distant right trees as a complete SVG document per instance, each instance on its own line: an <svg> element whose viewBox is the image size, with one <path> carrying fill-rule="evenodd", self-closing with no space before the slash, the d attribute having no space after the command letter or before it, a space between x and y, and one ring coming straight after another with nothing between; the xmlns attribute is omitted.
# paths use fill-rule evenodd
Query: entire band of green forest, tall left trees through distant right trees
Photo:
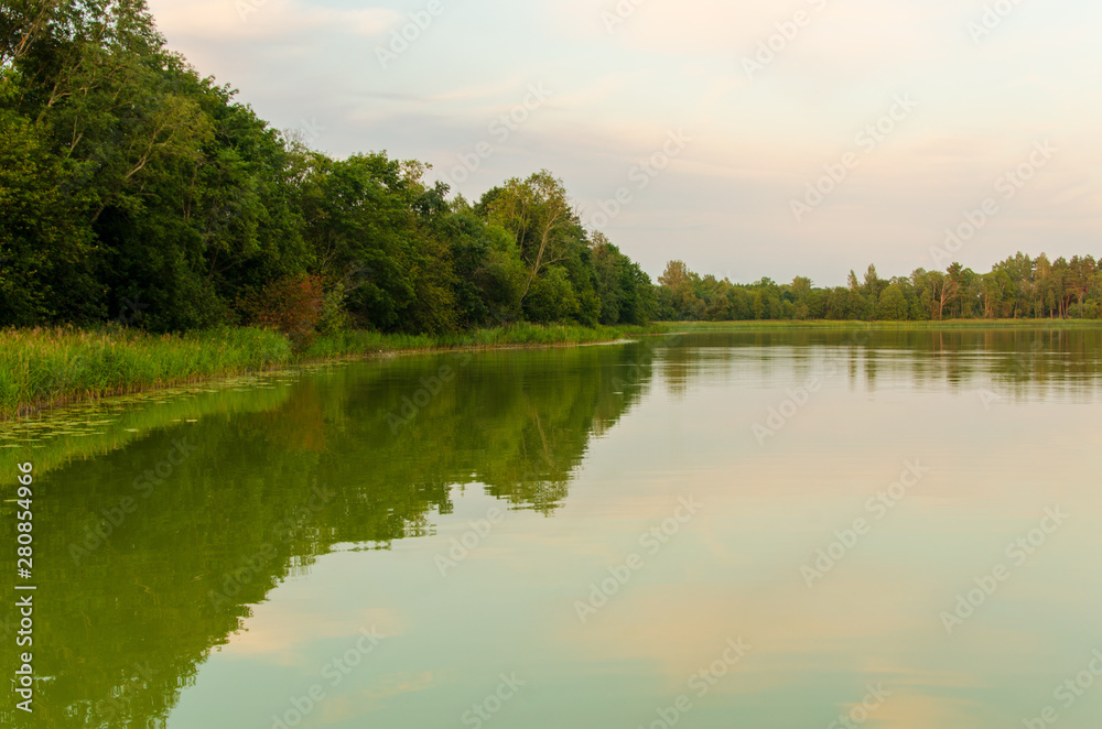
<svg viewBox="0 0 1102 729"><path fill-rule="evenodd" d="M1102 315L1091 257L1018 254L849 286L655 285L541 171L477 202L386 152L272 129L165 46L143 0L0 14L0 326L223 324L446 333L518 320Z"/></svg>

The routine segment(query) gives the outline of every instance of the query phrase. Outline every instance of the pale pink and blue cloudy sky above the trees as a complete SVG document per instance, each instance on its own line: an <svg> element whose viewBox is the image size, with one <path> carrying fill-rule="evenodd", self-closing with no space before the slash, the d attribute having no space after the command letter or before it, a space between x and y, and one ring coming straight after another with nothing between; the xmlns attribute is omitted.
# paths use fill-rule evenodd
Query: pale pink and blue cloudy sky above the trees
<svg viewBox="0 0 1102 729"><path fill-rule="evenodd" d="M468 199L547 168L652 276L1102 257L1096 1L149 6L315 149L421 160Z"/></svg>

